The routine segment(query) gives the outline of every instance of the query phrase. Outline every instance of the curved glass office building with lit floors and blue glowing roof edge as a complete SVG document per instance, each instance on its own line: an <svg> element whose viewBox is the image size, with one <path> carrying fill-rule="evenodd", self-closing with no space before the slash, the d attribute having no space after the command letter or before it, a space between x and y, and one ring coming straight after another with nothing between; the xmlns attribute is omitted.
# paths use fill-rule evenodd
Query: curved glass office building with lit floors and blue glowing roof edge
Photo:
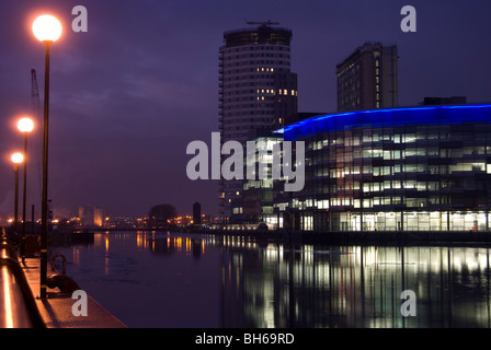
<svg viewBox="0 0 491 350"><path fill-rule="evenodd" d="M286 126L305 141L305 187L277 194L279 225L306 231L487 231L491 104L318 116Z"/></svg>

